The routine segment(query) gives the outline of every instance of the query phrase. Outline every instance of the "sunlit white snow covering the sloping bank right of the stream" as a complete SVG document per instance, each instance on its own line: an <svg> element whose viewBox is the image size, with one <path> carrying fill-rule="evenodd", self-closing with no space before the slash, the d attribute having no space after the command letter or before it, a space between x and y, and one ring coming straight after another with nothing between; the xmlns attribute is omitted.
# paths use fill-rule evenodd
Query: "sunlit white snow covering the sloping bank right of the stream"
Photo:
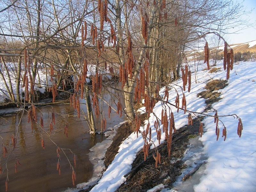
<svg viewBox="0 0 256 192"><path fill-rule="evenodd" d="M203 112L205 103L203 98L197 98L196 95L204 90L205 84L212 79L226 79L226 71L223 69L223 61L217 63L217 68L221 67L219 71L209 73L206 70L206 65L202 62L198 65L195 83L195 68L194 64L190 63L190 70L192 71L191 91L187 89L184 92L187 100L187 110L195 112ZM197 68L197 66L196 66ZM182 99L182 92L180 86L182 80L179 79L169 87L169 102L174 104L176 92L179 91L180 103ZM174 89L175 88L175 89ZM186 87L187 88L187 87ZM194 180L197 182L181 181L175 182L173 189L164 188L160 185L150 191L161 189L164 191L180 191L181 184L186 185L190 191L205 192L205 191L256 191L256 62L239 62L235 63L234 68L230 71L230 78L228 86L219 90L221 93L221 100L212 105L212 108L218 110L219 116L236 114L242 119L243 132L241 138L237 135L238 119L233 116L220 117L220 120L227 128L227 139L223 140L221 137L222 124L219 122L220 138L216 141L215 126L213 117L204 118L204 134L201 140L203 142L203 149L200 153L208 157L207 163L204 164L204 169L201 174L195 176ZM164 95L164 89L160 91L160 95ZM177 113L175 107L169 106L174 112L176 129L188 123L188 114L180 110ZM168 108L167 108L168 109ZM142 108L143 110L143 108ZM156 116L161 116L162 105L160 102L156 103L153 112ZM167 114L168 111L167 111ZM214 115L215 112L209 111L207 114ZM193 116L193 115L192 115ZM169 118L169 117L168 117ZM156 131L154 129L154 122L156 117L151 115L149 123L152 128L152 142L158 146L156 139ZM143 131L146 129L148 120L145 121L145 126L140 127ZM161 125L162 128L162 125ZM164 141L162 137L161 142ZM142 149L144 141L139 134L131 134L120 146L118 154L113 160L112 164L103 173L102 178L98 184L91 190L96 192L115 191L122 183L125 182L124 175L131 171L132 162L135 159L136 153ZM198 152L199 153L199 152ZM193 180L193 176L190 180ZM192 184L191 184L192 183ZM80 184L79 187L85 187L87 183Z"/></svg>

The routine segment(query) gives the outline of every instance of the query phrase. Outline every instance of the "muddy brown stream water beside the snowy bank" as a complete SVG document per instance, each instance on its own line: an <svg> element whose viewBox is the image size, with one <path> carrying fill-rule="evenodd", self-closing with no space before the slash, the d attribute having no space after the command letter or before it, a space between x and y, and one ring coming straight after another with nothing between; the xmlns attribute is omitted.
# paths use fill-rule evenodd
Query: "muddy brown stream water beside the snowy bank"
<svg viewBox="0 0 256 192"><path fill-rule="evenodd" d="M111 90L115 92L114 90ZM108 93L104 94L104 99L114 106L114 100ZM80 101L84 102L83 100ZM117 101L116 101L117 102ZM112 110L110 119L108 118L108 105L104 104L104 112L107 119L107 128L112 127L124 121L124 115L120 118L116 112ZM74 117L74 109L69 104L45 106L37 109L37 119L40 122L40 114L44 118L44 130L49 132L49 126L52 119L52 109L55 113L56 124L53 125L53 132L50 138L61 148L71 149L76 154L76 183L87 182L92 177L93 165L88 158L89 149L97 142L105 139L104 136L87 133L89 127L82 117L78 119ZM86 112L86 106L81 104L81 109ZM82 113L81 113L82 114ZM60 170L61 175L57 171L57 152L56 145L47 138L44 132L40 132L39 128L31 129L30 123L27 122L27 113L8 116L1 116L0 136L3 137L4 146L8 150L8 154L3 158L3 148L0 148L0 159L2 170L12 149L11 135L16 135L19 121L21 124L18 131L18 139L14 152L8 159L8 191L9 192L60 192L67 188L72 188L72 169L63 152L60 152ZM64 134L65 123L68 123L68 138ZM100 118L95 117L97 131L101 129ZM42 135L45 142L45 149L41 146ZM0 140L2 138L0 137ZM71 164L74 166L74 158L69 150L64 150ZM15 173L15 159L18 158L18 172ZM5 180L7 178L7 170L0 179L0 191L5 191Z"/></svg>

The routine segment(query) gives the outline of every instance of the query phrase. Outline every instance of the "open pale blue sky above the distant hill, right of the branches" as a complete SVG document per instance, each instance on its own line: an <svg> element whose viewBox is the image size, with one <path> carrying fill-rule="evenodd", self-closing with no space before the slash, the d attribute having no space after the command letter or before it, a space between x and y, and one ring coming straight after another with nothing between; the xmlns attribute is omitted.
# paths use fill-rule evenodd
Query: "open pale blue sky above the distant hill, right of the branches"
<svg viewBox="0 0 256 192"><path fill-rule="evenodd" d="M248 18L250 23L256 23L256 0L237 0L237 2L242 3L244 8L247 10L252 10L249 15L244 15L244 19ZM240 28L236 27L229 32L233 33ZM256 26L254 27L244 27L241 31L237 32L239 34L230 34L228 35L228 43L229 44L236 44L236 43L246 43L253 40L256 40Z"/></svg>

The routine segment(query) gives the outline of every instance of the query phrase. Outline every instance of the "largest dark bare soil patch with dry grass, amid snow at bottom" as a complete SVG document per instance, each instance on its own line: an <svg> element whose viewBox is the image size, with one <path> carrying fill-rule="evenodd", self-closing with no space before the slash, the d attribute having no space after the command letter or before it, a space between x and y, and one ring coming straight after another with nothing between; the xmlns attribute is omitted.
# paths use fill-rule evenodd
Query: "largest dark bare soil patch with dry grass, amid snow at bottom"
<svg viewBox="0 0 256 192"><path fill-rule="evenodd" d="M161 154L161 164L158 164L157 168L156 161L152 156L152 153L155 154L156 149L150 149L149 156L145 162L143 150L140 150L132 164L132 172L127 176L126 182L116 191L147 191L161 183L172 187L176 177L185 168L180 158L182 158L187 148L188 138L191 135L197 135L198 127L199 120L196 119L193 122L193 126L186 125L176 133L173 133L171 156L168 156L166 141L159 145L157 150Z"/></svg>

